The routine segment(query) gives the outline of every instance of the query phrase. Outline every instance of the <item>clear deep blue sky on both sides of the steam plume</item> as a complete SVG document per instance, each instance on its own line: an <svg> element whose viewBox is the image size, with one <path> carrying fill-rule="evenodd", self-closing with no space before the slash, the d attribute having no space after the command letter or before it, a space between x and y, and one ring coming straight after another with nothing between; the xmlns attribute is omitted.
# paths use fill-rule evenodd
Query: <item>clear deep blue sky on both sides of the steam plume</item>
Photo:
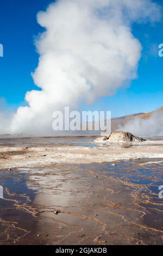
<svg viewBox="0 0 163 256"><path fill-rule="evenodd" d="M28 90L38 89L30 75L37 66L39 55L34 46L34 36L42 32L36 14L45 10L48 0L1 0L0 43L4 45L4 57L0 58L0 97L8 108L25 105ZM162 7L162 1L158 0ZM140 40L143 51L137 79L131 81L112 97L103 97L90 110L111 110L112 117L148 112L163 106L162 67L163 58L158 57L158 45L163 43L163 20L154 25L133 26L133 34ZM0 104L1 106L1 104Z"/></svg>

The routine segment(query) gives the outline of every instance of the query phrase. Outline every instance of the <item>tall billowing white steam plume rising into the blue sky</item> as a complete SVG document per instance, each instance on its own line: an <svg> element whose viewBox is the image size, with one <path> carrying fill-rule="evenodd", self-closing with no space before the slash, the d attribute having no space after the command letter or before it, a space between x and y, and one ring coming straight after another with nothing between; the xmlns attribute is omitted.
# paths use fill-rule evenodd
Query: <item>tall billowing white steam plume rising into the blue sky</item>
<svg viewBox="0 0 163 256"><path fill-rule="evenodd" d="M41 90L26 93L28 106L19 107L0 133L51 134L53 111L111 96L136 78L141 44L131 24L159 17L152 0L59 0L49 5L37 15L45 32L36 41L40 58L32 76Z"/></svg>

